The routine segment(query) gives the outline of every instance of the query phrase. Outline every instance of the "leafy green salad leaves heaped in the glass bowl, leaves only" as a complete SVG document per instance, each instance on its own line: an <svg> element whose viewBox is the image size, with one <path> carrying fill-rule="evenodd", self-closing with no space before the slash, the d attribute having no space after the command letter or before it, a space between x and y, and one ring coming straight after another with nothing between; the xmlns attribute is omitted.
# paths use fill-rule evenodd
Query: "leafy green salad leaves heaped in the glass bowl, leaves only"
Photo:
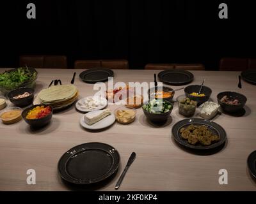
<svg viewBox="0 0 256 204"><path fill-rule="evenodd" d="M4 73L0 73L0 87L15 89L26 82L35 80L36 76L36 71L32 71L29 68L17 68L12 71L5 71Z"/></svg>

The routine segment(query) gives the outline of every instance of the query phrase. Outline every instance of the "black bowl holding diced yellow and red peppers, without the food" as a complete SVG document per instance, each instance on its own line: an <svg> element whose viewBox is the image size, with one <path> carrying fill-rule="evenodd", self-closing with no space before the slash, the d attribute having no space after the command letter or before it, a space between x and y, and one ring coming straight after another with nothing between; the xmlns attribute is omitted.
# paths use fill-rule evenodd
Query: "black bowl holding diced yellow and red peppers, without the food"
<svg viewBox="0 0 256 204"><path fill-rule="evenodd" d="M29 108L26 108L23 112L22 112L22 118L33 128L42 128L44 126L46 126L52 119L52 106L51 107L51 113L49 113L49 115L43 117L42 119L26 119L26 116L28 115L28 112L30 110L32 110L33 108L35 108L36 106L49 106L49 105L34 105L31 106Z"/></svg>

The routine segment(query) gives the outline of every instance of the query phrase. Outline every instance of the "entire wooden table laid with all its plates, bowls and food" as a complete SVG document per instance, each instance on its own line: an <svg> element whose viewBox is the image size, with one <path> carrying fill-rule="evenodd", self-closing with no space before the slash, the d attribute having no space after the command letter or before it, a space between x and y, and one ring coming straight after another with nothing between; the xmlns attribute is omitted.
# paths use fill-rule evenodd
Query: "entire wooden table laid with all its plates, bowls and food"
<svg viewBox="0 0 256 204"><path fill-rule="evenodd" d="M12 75L20 82L6 84ZM255 190L254 75L0 69L0 190L219 191L223 168L225 190ZM126 85L108 89L109 77ZM99 82L103 96L93 90ZM129 82L154 87L134 94ZM34 188L27 168L37 172Z"/></svg>

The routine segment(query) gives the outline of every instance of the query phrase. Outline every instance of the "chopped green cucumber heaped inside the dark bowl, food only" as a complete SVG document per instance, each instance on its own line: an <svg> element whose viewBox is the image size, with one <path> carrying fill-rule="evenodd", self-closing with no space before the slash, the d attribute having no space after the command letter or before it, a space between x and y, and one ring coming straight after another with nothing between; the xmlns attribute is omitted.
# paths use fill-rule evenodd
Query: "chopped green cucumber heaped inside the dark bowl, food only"
<svg viewBox="0 0 256 204"><path fill-rule="evenodd" d="M168 101L153 99L148 105L143 105L142 108L149 113L166 113L171 110L172 104Z"/></svg>

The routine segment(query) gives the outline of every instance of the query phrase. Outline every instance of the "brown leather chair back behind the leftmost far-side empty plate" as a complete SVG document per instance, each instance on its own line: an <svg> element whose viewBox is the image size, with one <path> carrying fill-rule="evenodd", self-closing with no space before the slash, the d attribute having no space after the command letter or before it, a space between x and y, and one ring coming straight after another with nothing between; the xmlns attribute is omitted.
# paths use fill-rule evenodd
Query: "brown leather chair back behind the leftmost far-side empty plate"
<svg viewBox="0 0 256 204"><path fill-rule="evenodd" d="M86 68L109 68L109 69L129 69L127 60L77 60L74 64L75 69Z"/></svg>

